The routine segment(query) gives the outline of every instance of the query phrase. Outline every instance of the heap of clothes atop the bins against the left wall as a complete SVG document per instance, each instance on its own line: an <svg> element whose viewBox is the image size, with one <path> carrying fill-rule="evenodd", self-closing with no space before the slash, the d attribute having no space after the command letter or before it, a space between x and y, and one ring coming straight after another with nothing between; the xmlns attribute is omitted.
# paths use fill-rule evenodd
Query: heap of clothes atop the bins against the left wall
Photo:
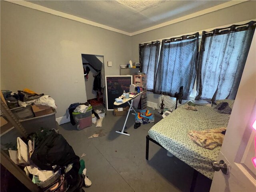
<svg viewBox="0 0 256 192"><path fill-rule="evenodd" d="M57 108L53 98L43 93L38 94L28 88L25 88L22 91L18 90L18 94L10 90L2 90L2 94L6 100L8 108L10 109L19 106L26 107L29 104L48 106L54 109Z"/></svg>

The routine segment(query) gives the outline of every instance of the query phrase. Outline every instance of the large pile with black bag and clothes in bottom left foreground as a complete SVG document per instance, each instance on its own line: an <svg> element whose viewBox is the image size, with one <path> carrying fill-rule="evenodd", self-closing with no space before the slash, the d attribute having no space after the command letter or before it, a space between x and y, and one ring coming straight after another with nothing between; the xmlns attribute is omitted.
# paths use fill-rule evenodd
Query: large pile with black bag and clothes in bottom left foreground
<svg viewBox="0 0 256 192"><path fill-rule="evenodd" d="M24 167L32 182L44 191L51 191L51 188L66 191L92 184L86 177L84 161L80 161L73 148L54 129L40 129L30 134L28 139L18 137L17 150L9 150L9 154L16 164Z"/></svg>

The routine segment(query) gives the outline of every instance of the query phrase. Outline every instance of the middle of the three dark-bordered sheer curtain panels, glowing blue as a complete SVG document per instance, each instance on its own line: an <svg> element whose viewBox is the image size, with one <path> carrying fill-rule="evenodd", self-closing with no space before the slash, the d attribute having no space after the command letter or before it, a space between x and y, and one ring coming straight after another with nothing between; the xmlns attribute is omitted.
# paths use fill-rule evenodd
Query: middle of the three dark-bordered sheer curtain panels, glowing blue
<svg viewBox="0 0 256 192"><path fill-rule="evenodd" d="M183 86L188 99L196 80L199 33L162 40L154 93L174 96Z"/></svg>

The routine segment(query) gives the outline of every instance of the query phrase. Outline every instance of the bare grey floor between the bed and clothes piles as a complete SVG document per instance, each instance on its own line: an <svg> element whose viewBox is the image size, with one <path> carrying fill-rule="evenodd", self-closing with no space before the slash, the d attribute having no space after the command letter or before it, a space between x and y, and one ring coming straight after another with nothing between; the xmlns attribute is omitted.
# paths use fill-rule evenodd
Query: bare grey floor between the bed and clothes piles
<svg viewBox="0 0 256 192"><path fill-rule="evenodd" d="M152 108L149 108L154 112ZM166 156L166 150L150 142L149 160L145 159L146 135L153 123L134 129L134 115L129 116L126 131L122 130L126 116L114 116L107 111L103 126L76 130L70 123L60 126L62 134L76 155L85 161L92 186L86 192L188 192L193 170L176 157ZM97 138L89 138L100 133ZM198 174L196 192L210 190L211 180Z"/></svg>

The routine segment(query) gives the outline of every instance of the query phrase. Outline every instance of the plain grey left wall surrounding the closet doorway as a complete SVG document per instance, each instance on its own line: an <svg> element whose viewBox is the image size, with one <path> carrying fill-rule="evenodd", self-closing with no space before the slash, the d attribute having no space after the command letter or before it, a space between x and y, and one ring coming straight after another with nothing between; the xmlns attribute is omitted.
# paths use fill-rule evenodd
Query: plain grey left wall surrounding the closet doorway
<svg viewBox="0 0 256 192"><path fill-rule="evenodd" d="M56 118L85 102L81 54L103 55L106 75L131 58L131 37L1 1L1 89L30 88L52 96Z"/></svg>

